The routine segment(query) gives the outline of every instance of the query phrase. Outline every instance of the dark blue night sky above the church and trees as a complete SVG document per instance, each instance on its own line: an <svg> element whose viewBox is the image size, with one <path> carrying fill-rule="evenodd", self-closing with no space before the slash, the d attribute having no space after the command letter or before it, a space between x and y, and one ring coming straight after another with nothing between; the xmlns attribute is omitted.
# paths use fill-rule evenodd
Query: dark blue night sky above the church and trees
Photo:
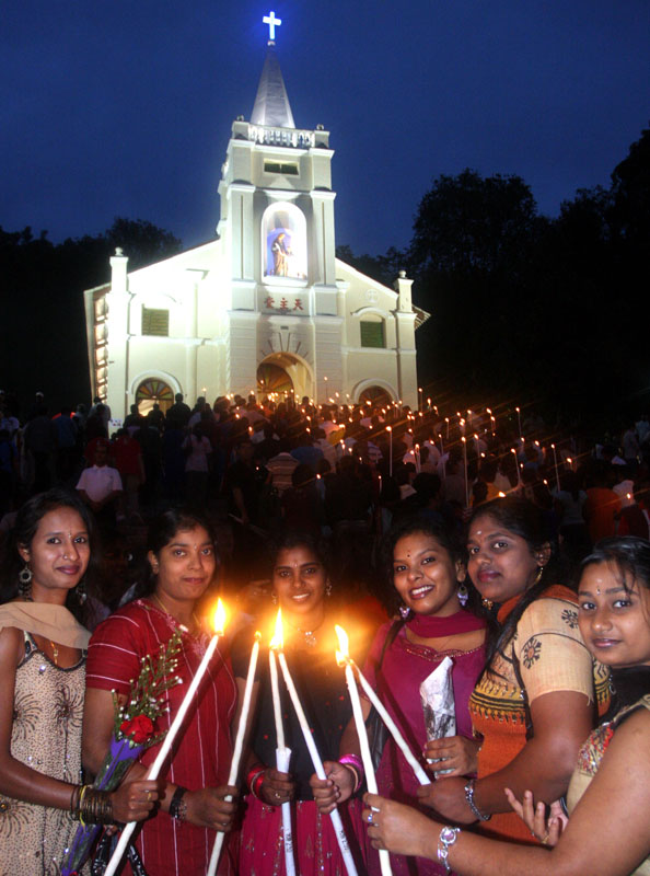
<svg viewBox="0 0 650 876"><path fill-rule="evenodd" d="M410 239L439 174L520 174L557 214L650 117L648 0L21 0L3 7L0 224L54 241L115 216L213 235L269 9L298 127L336 150L337 243Z"/></svg>

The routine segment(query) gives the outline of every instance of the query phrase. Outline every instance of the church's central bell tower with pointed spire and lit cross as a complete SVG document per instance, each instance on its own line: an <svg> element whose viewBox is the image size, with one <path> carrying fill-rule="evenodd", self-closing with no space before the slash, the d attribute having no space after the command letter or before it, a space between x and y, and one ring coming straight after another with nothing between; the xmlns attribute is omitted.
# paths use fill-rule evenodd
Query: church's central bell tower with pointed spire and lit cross
<svg viewBox="0 0 650 876"><path fill-rule="evenodd" d="M264 21L270 37L266 58L249 120L240 116L232 125L217 227L230 266L231 365L244 369L246 385L254 385L254 364L237 350L251 350L255 332L259 349L253 314L268 316L271 328L282 318L289 334L297 318L312 318L312 324L316 316L330 318L330 342L340 345L329 131L295 127L275 42L281 20L271 12ZM304 328L300 335L315 372L320 342L313 332L305 337ZM325 360L325 373L335 378L340 356ZM233 379L232 385L240 382Z"/></svg>

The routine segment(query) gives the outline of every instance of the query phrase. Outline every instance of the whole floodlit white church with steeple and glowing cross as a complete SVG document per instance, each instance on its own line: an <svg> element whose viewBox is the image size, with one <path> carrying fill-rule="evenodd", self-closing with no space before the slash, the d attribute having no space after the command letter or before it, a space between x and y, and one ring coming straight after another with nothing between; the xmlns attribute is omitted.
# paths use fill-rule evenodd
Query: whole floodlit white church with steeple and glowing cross
<svg viewBox="0 0 650 876"><path fill-rule="evenodd" d="M111 283L84 292L93 395L115 418L272 392L315 403L417 407L416 338L428 314L404 272L394 289L335 256L329 132L295 127L274 13L251 119L232 125L217 237L139 270L111 258Z"/></svg>

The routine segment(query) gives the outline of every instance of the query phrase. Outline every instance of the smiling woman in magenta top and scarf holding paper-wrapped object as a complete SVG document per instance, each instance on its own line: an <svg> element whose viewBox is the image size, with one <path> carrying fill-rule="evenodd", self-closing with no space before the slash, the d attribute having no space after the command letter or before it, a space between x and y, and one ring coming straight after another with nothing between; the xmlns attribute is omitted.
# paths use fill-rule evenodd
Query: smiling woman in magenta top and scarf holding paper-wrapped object
<svg viewBox="0 0 650 876"><path fill-rule="evenodd" d="M451 657L457 733L431 744L429 757L444 759L431 769L450 770L448 776L475 773L478 742L472 738L468 701L485 664L486 622L462 604L468 591L464 585L461 544L444 526L415 517L391 530L383 560L390 577L387 607L392 613L399 610L402 620L379 630L363 675L411 751L419 753L427 744L420 684L445 657ZM362 702L368 718L371 706L368 700ZM352 723L346 729L340 750L344 764L346 754L359 756L359 739ZM353 772L341 769L340 761L327 766L329 783L314 788L322 811L327 811L336 800L346 799L355 787ZM376 781L380 794L417 805L419 782L393 738L384 747ZM376 855L371 850L368 854L369 873L379 874ZM402 855L392 855L391 866L395 876L443 872L436 863L409 861Z"/></svg>

